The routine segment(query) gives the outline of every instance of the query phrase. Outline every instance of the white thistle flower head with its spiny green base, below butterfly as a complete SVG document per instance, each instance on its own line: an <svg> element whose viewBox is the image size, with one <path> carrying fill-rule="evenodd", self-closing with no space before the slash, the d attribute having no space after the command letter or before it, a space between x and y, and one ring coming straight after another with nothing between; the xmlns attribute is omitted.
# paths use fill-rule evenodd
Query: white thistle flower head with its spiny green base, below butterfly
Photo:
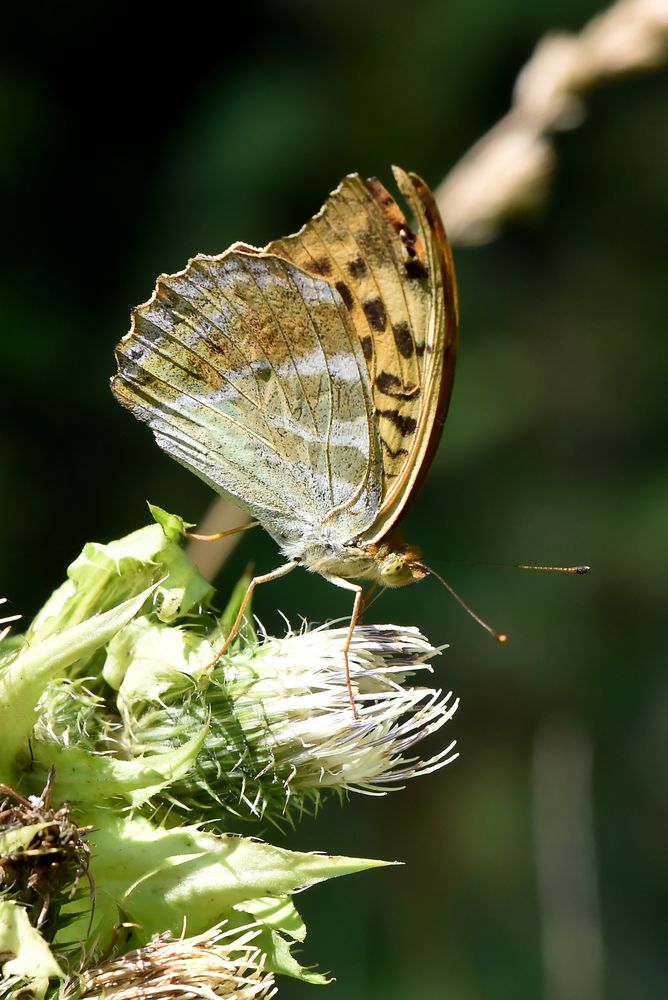
<svg viewBox="0 0 668 1000"><path fill-rule="evenodd" d="M430 670L438 653L416 628L355 629L349 663L359 719L345 683L345 628L265 635L218 661L211 674L193 671L191 663L168 686L165 652L173 631L162 629L155 640L162 651L153 661L162 680L159 703L146 697L146 658L141 677L126 675L119 691L133 755L164 752L207 727L194 769L169 787L172 803L206 814L213 797L228 809L278 821L315 807L326 790L382 794L457 756L454 743L426 759L412 752L458 704L451 692L404 683ZM182 632L172 639L183 645ZM204 662L212 650L206 643Z"/></svg>

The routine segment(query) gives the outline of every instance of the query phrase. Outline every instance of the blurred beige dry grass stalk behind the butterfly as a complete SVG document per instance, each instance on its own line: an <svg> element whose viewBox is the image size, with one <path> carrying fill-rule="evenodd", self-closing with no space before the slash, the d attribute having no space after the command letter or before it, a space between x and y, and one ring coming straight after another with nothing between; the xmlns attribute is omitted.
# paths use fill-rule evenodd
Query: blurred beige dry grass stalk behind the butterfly
<svg viewBox="0 0 668 1000"><path fill-rule="evenodd" d="M487 243L541 204L556 163L552 137L582 122L589 91L667 59L668 0L619 0L578 35L546 35L517 78L511 110L436 191L452 242Z"/></svg>

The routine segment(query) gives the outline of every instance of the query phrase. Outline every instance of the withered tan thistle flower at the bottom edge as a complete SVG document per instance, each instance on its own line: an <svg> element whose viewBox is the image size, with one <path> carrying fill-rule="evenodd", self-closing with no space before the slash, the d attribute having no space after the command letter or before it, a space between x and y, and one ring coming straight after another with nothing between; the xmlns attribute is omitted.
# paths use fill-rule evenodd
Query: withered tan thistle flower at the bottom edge
<svg viewBox="0 0 668 1000"><path fill-rule="evenodd" d="M171 1000L175 997L230 997L269 1000L276 988L264 968L266 956L254 943L255 925L224 931L218 924L195 937L161 935L112 961L103 962L67 984L63 1000Z"/></svg>

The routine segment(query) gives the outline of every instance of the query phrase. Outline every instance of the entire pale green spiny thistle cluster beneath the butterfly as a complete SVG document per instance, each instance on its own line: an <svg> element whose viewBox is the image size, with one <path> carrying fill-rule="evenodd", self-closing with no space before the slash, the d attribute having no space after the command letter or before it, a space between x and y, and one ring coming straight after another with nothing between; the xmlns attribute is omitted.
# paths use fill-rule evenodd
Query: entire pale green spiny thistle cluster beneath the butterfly
<svg viewBox="0 0 668 1000"><path fill-rule="evenodd" d="M438 653L417 629L355 630L359 718L345 628L277 639L249 621L212 666L245 588L217 620L183 522L153 514L87 545L26 635L4 635L3 996L50 1000L72 969L84 970L73 1000L266 997L274 974L325 982L292 953L306 934L293 895L386 862L284 850L228 833L221 816L293 819L324 793L382 794L455 756L416 749L457 706L410 682ZM54 849L60 871L42 870Z"/></svg>

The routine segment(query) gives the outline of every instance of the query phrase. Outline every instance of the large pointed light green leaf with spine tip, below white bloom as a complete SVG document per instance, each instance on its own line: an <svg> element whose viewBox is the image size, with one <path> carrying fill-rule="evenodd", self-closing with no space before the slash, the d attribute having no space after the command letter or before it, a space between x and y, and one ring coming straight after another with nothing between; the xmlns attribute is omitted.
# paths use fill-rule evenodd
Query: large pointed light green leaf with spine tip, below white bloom
<svg viewBox="0 0 668 1000"><path fill-rule="evenodd" d="M137 924L131 943L136 947L163 931L181 933L184 921L189 935L199 934L248 900L284 899L325 879L385 864L286 851L197 827L167 830L102 810L86 819L96 827L89 837L97 897L93 936L102 948L111 940L119 908ZM68 930L83 939L88 917L82 912L79 925Z"/></svg>

